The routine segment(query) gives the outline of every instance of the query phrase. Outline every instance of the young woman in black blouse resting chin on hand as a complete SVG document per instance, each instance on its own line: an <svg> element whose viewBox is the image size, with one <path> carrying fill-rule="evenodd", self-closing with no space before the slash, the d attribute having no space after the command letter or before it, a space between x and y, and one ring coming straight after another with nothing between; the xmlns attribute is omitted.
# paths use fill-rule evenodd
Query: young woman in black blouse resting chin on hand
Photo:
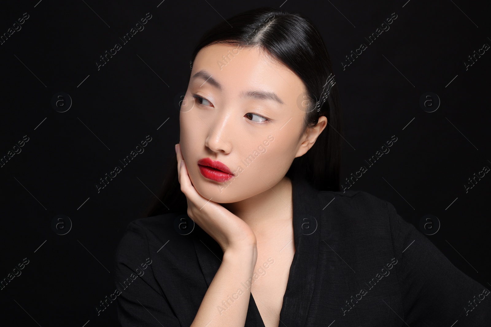
<svg viewBox="0 0 491 327"><path fill-rule="evenodd" d="M205 33L171 174L117 249L122 326L490 326L487 288L389 202L339 190L333 76L301 14Z"/></svg>

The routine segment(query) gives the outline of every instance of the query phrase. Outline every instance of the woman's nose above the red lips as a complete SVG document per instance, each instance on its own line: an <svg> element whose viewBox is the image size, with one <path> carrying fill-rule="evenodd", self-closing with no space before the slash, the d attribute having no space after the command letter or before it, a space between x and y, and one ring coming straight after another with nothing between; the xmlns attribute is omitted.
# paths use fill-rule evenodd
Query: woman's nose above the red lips
<svg viewBox="0 0 491 327"><path fill-rule="evenodd" d="M214 152L223 152L224 154L232 151L231 133L233 117L226 110L218 110L216 115L210 120L203 120L203 123L208 125L208 136L205 140L205 145Z"/></svg>

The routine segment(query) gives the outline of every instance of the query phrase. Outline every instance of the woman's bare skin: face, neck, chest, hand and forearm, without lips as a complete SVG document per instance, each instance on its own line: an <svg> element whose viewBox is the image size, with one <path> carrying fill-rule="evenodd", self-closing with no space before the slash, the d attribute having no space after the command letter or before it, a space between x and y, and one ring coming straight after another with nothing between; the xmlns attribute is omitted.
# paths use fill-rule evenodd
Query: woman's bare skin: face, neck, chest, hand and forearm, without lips
<svg viewBox="0 0 491 327"><path fill-rule="evenodd" d="M226 65L223 56L229 58ZM203 71L208 75L194 77ZM296 74L258 48L216 44L200 50L193 62L176 145L179 183L188 215L224 254L191 326L244 326L251 292L265 326L279 324L295 254L292 184L285 174L327 126L321 116L299 139L305 108L298 99L304 91ZM246 92L274 97L244 97ZM205 157L227 165L234 178L217 182L202 176L197 161ZM245 289L241 282L264 272L268 258L274 263ZM222 301L239 288L240 296L226 308Z"/></svg>

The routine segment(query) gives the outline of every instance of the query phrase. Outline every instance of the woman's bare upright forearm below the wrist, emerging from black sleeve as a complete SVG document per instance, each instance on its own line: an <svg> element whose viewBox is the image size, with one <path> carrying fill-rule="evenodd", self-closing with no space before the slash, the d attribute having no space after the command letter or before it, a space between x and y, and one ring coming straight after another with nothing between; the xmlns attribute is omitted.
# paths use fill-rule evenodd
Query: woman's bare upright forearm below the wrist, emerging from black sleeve
<svg viewBox="0 0 491 327"><path fill-rule="evenodd" d="M250 287L245 285L256 260L255 245L225 251L191 327L244 327L250 298Z"/></svg>

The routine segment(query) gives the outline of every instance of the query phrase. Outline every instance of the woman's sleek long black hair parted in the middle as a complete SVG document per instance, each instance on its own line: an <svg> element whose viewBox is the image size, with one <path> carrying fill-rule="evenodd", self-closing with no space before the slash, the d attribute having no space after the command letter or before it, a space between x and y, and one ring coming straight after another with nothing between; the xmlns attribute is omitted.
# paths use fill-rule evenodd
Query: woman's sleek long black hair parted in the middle
<svg viewBox="0 0 491 327"><path fill-rule="evenodd" d="M230 27L232 26L232 27ZM313 109L323 94L329 76L334 75L324 41L314 24L300 13L288 13L271 7L251 9L215 25L206 31L191 55L191 66L199 50L213 44L259 47L295 72L305 85L309 108L304 128L315 126L320 116L327 126L304 155L293 160L286 176L300 174L318 190L339 191L342 117L337 84L330 89L324 104ZM158 199L144 216L187 212L187 201L177 176L177 158L172 157Z"/></svg>

